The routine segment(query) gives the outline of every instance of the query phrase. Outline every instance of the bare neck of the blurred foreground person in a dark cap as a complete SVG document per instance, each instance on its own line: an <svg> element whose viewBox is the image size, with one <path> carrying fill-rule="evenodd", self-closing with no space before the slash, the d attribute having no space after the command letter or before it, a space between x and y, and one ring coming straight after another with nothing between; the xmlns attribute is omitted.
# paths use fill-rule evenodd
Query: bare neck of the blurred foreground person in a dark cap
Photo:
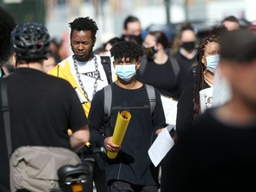
<svg viewBox="0 0 256 192"><path fill-rule="evenodd" d="M256 122L256 108L255 105L244 104L241 98L233 95L231 100L217 108L216 116L227 124L251 124Z"/></svg>

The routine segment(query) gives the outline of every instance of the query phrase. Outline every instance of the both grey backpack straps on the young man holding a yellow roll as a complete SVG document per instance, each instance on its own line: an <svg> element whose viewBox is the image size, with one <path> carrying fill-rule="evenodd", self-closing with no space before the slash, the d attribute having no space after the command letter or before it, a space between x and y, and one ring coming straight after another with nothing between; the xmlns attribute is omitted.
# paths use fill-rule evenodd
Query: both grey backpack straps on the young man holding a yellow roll
<svg viewBox="0 0 256 192"><path fill-rule="evenodd" d="M156 92L153 86L149 84L146 85L146 90L148 92L148 100L150 105L150 114L152 115L156 108ZM110 117L111 105L112 105L112 87L108 84L104 88L104 124L108 124L108 119Z"/></svg>

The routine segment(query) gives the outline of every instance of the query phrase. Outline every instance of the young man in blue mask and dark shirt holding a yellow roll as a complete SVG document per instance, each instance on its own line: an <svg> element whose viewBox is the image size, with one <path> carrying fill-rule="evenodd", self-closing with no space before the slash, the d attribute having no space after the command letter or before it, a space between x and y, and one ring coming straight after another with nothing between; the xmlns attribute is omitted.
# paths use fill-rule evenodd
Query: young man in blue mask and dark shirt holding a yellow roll
<svg viewBox="0 0 256 192"><path fill-rule="evenodd" d="M148 156L152 139L166 126L160 93L155 91L156 106L150 110L148 84L136 79L143 49L139 44L121 42L110 49L114 57L117 79L109 84L112 92L110 116L105 122L105 88L96 92L89 113L91 141L107 151L118 152L115 159L107 157L105 168L109 191L157 192L157 168ZM122 147L112 142L117 114L129 111L132 118L124 134ZM108 124L108 126L106 125Z"/></svg>

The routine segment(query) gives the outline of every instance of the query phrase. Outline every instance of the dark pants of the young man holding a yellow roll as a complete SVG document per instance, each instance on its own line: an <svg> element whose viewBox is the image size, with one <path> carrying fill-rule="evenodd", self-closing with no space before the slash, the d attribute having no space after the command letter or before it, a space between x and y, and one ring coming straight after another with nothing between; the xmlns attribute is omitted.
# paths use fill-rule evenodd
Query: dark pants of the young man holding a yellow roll
<svg viewBox="0 0 256 192"><path fill-rule="evenodd" d="M122 180L115 180L108 186L109 192L157 192L156 186L133 185Z"/></svg>

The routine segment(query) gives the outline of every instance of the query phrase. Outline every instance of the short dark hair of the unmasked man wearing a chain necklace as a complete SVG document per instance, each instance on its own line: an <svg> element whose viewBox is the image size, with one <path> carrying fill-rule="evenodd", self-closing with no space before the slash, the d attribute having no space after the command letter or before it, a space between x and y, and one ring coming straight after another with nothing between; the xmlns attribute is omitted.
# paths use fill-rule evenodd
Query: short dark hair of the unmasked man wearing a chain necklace
<svg viewBox="0 0 256 192"><path fill-rule="evenodd" d="M72 37L74 30L78 30L78 31L91 30L92 39L93 39L95 38L97 30L99 29L96 22L89 17L76 18L76 20L73 20L73 22L70 22L68 24L69 24L69 27L71 28L70 39Z"/></svg>

